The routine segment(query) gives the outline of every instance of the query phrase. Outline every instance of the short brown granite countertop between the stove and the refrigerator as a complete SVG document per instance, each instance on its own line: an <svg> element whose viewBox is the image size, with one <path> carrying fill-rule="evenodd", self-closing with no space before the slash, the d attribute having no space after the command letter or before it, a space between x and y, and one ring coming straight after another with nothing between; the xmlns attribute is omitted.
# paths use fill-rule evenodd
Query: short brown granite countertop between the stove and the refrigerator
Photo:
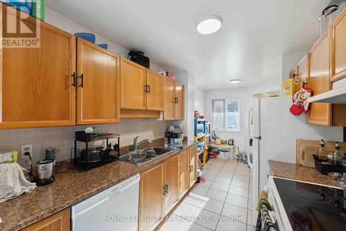
<svg viewBox="0 0 346 231"><path fill-rule="evenodd" d="M275 160L268 160L268 163L272 176L338 187L338 180L333 180L329 176L322 175L314 168Z"/></svg>

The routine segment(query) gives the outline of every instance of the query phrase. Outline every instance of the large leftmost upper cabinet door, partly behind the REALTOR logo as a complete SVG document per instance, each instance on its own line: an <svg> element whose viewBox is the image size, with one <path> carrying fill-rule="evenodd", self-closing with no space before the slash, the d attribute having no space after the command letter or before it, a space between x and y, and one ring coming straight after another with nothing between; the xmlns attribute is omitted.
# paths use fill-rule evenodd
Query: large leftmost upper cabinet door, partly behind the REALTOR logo
<svg viewBox="0 0 346 231"><path fill-rule="evenodd" d="M40 36L39 48L0 47L0 128L75 124L75 37L44 22Z"/></svg>

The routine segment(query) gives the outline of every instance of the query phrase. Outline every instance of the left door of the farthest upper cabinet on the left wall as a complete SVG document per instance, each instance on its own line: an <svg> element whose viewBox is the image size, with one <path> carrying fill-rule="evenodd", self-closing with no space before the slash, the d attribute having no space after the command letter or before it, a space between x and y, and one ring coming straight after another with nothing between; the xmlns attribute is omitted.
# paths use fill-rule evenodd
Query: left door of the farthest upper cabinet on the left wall
<svg viewBox="0 0 346 231"><path fill-rule="evenodd" d="M175 83L170 78L165 79L165 109L163 111L164 120L175 119Z"/></svg>

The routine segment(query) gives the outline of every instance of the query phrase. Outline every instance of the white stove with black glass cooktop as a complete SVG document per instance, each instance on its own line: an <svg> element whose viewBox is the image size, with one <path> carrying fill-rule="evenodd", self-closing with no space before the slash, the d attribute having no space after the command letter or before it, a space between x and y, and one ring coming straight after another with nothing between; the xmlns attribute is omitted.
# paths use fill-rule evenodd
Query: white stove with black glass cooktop
<svg viewBox="0 0 346 231"><path fill-rule="evenodd" d="M284 178L271 179L272 185L269 185L272 188L275 185L275 190L269 190L274 195L268 197L274 198L270 203L275 203L275 210L280 214L276 217L282 219L282 230L346 230L342 189ZM280 208L282 211L278 211ZM288 222L291 229L286 228Z"/></svg>

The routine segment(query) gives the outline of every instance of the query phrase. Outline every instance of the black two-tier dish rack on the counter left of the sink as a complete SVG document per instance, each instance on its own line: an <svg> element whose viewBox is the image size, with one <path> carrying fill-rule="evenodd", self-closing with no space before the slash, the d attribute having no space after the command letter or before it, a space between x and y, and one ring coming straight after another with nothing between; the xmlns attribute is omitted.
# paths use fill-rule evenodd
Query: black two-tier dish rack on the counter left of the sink
<svg viewBox="0 0 346 231"><path fill-rule="evenodd" d="M109 144L109 139L116 139L116 144ZM85 161L80 161L80 155L78 155L77 142L83 142L85 144L85 151L86 153L88 153L89 142L95 142L99 140L106 140L107 143L105 151L102 151L102 155L100 155L100 161L89 162L88 155L86 155ZM111 150L112 146L113 150ZM111 151L116 152L116 155L111 155ZM75 132L74 155L75 167L82 169L92 169L103 164L108 164L115 160L120 160L120 135L111 133L86 133L84 131Z"/></svg>

